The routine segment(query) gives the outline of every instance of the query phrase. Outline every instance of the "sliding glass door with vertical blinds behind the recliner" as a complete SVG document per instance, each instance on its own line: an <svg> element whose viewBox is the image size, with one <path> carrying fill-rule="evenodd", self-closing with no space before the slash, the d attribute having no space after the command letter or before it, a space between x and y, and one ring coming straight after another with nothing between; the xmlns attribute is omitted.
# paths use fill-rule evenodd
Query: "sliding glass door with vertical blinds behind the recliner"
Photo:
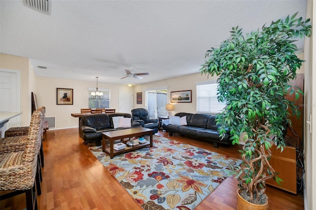
<svg viewBox="0 0 316 210"><path fill-rule="evenodd" d="M146 91L147 110L150 118L166 116L167 90Z"/></svg>

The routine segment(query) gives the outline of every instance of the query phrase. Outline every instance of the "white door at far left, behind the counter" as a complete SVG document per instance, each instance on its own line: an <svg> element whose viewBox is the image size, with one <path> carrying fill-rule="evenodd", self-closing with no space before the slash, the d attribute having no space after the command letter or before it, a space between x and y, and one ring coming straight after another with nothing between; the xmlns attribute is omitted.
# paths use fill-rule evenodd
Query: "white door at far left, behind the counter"
<svg viewBox="0 0 316 210"><path fill-rule="evenodd" d="M20 111L20 71L0 69L0 111ZM21 117L11 118L6 128L19 127Z"/></svg>

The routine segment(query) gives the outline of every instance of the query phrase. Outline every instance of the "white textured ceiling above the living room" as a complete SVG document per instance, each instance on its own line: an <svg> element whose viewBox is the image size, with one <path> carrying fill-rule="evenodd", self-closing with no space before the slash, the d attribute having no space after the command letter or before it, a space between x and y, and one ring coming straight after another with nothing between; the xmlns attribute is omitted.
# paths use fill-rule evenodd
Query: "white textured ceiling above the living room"
<svg viewBox="0 0 316 210"><path fill-rule="evenodd" d="M38 76L142 84L198 73L232 27L251 32L307 0L52 0L51 15L0 0L0 52L30 59ZM303 48L304 42L297 45ZM47 67L41 70L37 66ZM124 69L149 72L120 79Z"/></svg>

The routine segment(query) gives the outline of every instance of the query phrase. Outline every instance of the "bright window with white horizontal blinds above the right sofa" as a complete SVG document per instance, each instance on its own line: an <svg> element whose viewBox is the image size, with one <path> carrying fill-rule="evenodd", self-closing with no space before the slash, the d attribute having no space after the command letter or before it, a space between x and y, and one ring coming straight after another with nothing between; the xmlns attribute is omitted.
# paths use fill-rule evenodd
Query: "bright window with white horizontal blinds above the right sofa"
<svg viewBox="0 0 316 210"><path fill-rule="evenodd" d="M224 109L226 104L217 99L217 87L216 80L197 82L197 112L219 113Z"/></svg>

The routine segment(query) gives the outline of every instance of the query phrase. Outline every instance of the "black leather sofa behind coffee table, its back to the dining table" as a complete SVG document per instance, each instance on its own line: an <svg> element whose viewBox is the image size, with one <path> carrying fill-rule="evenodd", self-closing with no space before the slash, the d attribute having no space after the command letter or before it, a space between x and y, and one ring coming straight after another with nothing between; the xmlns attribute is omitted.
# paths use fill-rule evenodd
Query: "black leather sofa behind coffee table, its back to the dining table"
<svg viewBox="0 0 316 210"><path fill-rule="evenodd" d="M100 113L100 114L85 114L81 116L79 121L79 136L84 144L95 141L97 146L101 145L102 132L115 131L120 129L128 129L134 127L141 127L140 122L131 119L131 127L114 128L113 117L122 116L125 118L132 118L129 113Z"/></svg>

